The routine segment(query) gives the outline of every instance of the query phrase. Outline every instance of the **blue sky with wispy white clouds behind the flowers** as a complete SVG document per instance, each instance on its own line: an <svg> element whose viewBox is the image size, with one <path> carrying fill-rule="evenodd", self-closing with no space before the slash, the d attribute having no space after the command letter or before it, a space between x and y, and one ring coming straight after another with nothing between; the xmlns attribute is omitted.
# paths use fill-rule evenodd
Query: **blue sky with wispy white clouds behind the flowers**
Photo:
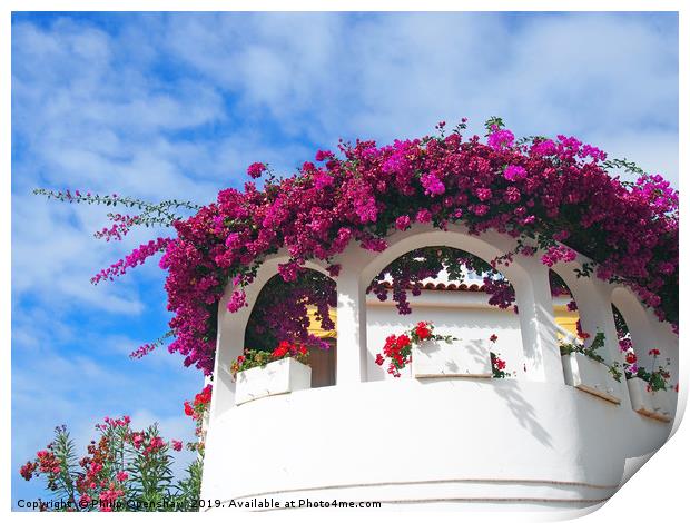
<svg viewBox="0 0 690 523"><path fill-rule="evenodd" d="M165 348L156 263L89 278L158 231L102 243L105 209L36 187L206 203L247 165L289 171L338 138L381 142L502 116L574 135L678 187L673 13L14 13L12 468L106 415L190 438L201 387ZM181 456L181 461L189 456ZM180 464L181 465L181 464ZM38 483L13 474L12 499Z"/></svg>

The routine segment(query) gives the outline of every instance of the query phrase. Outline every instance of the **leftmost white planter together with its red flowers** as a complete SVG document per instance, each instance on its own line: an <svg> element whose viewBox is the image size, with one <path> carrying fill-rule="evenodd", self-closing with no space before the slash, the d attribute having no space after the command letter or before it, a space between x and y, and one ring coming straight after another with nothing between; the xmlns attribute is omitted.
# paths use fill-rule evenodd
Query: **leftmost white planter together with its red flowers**
<svg viewBox="0 0 690 523"><path fill-rule="evenodd" d="M312 387L307 347L280 342L272 352L245 349L230 366L237 386L235 405Z"/></svg>

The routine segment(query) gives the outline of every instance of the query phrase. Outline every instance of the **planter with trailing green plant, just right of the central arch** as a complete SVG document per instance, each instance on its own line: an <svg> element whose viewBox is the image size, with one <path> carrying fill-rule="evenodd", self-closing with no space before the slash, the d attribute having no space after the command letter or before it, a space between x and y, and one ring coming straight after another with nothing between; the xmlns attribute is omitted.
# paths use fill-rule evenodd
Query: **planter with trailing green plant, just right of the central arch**
<svg viewBox="0 0 690 523"><path fill-rule="evenodd" d="M593 394L611 403L621 403L621 372L615 365L607 365L604 358L597 353L604 346L605 336L597 333L589 346L584 341L589 334L579 333L582 342L561 342L561 361L565 383L580 391Z"/></svg>

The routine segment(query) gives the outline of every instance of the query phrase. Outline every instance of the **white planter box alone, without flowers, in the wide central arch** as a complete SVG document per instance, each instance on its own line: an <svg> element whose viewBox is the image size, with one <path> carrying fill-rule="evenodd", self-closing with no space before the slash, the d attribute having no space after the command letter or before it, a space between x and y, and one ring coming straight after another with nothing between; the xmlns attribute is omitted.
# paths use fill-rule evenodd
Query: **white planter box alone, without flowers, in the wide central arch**
<svg viewBox="0 0 690 523"><path fill-rule="evenodd" d="M491 377L485 339L424 342L412 349L413 377Z"/></svg>

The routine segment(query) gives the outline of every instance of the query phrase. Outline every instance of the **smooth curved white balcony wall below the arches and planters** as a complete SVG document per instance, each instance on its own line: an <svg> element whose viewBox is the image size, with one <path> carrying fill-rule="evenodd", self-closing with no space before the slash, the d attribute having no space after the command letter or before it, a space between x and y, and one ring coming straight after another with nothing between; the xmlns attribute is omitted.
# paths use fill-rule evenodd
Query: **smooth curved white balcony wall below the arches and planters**
<svg viewBox="0 0 690 523"><path fill-rule="evenodd" d="M204 499L581 509L669 424L566 385L400 379L231 408L209 431Z"/></svg>

